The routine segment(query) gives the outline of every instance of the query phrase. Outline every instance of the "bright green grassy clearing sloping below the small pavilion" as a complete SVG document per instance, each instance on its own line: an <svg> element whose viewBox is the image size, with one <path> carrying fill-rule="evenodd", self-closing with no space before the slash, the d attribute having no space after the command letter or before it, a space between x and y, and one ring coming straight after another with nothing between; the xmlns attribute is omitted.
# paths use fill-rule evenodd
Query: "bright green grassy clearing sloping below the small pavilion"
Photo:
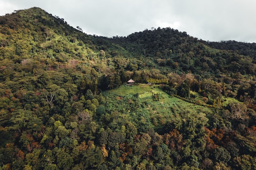
<svg viewBox="0 0 256 170"><path fill-rule="evenodd" d="M154 126L162 126L168 120L178 119L182 113L213 113L211 108L185 102L177 97L171 97L158 86L152 87L146 84L123 85L109 92L117 97L138 93L140 103L145 104L143 108L145 111L141 111L148 113Z"/></svg>

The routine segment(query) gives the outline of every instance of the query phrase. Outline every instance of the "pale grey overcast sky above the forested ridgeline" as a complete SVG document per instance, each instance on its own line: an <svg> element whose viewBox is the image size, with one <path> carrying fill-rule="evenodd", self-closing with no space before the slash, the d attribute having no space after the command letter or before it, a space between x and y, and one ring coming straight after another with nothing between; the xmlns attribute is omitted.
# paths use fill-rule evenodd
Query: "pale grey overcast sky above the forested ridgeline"
<svg viewBox="0 0 256 170"><path fill-rule="evenodd" d="M256 42L256 0L0 0L0 15L31 7L92 35L171 27L206 41Z"/></svg>

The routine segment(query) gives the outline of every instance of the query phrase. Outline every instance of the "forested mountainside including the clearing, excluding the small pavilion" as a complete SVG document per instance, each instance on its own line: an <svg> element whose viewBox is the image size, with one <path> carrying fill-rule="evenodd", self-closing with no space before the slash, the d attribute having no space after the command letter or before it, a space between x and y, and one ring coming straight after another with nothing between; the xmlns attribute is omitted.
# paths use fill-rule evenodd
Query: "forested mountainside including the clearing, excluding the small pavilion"
<svg viewBox="0 0 256 170"><path fill-rule="evenodd" d="M0 16L0 170L255 170L255 155L255 43Z"/></svg>

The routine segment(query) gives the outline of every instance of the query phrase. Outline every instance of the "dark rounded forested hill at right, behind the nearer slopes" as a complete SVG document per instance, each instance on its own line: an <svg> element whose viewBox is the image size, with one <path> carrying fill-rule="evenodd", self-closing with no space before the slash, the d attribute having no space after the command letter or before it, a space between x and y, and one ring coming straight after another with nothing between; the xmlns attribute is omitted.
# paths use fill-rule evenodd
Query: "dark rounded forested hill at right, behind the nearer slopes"
<svg viewBox="0 0 256 170"><path fill-rule="evenodd" d="M177 62L180 71L192 73L209 71L215 74L218 69L222 73L255 73L255 43L206 42L171 28L152 28L152 30L132 33L127 37L113 37L111 40L135 55L153 57L152 60L162 59L160 62L162 66L173 67ZM248 70L248 67L253 69Z"/></svg>

